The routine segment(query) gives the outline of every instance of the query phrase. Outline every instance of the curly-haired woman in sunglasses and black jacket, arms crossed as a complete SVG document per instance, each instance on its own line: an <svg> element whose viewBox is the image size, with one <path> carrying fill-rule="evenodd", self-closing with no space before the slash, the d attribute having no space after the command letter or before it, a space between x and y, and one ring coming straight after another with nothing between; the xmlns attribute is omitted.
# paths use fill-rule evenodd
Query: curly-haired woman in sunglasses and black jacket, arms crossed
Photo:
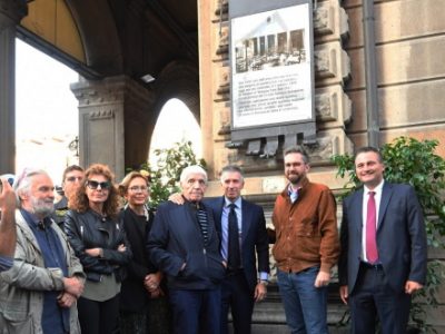
<svg viewBox="0 0 445 334"><path fill-rule="evenodd" d="M106 165L91 165L69 203L65 229L87 281L78 301L82 334L119 332L119 293L131 252L118 218L119 194Z"/></svg>

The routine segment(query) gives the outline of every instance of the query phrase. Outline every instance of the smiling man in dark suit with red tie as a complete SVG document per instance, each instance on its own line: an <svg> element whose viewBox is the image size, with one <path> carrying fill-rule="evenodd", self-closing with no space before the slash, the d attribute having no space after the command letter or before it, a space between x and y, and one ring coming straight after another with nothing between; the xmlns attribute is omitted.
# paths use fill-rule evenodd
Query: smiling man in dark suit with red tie
<svg viewBox="0 0 445 334"><path fill-rule="evenodd" d="M427 246L422 207L413 187L384 180L380 153L363 147L355 168L364 187L343 203L340 297L353 333L406 333L411 295L426 277Z"/></svg>

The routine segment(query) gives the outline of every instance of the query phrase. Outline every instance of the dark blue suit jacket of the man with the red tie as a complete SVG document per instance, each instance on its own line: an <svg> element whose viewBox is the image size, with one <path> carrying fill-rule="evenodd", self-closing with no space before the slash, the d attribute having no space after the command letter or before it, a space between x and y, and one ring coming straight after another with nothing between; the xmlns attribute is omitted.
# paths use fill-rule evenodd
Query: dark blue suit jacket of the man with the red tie
<svg viewBox="0 0 445 334"><path fill-rule="evenodd" d="M338 273L339 284L348 285L349 294L354 292L360 264L363 196L362 188L343 202ZM378 212L377 249L388 284L395 292L404 291L406 281L425 284L425 224L413 187L384 183Z"/></svg>

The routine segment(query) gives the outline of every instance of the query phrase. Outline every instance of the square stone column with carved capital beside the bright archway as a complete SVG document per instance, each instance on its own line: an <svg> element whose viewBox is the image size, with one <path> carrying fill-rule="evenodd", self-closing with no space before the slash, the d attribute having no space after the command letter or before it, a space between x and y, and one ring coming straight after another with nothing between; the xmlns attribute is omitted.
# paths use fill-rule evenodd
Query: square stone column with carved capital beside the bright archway
<svg viewBox="0 0 445 334"><path fill-rule="evenodd" d="M80 165L108 165L117 180L126 168L147 161L148 111L152 95L132 79L80 79L71 85L79 100Z"/></svg>

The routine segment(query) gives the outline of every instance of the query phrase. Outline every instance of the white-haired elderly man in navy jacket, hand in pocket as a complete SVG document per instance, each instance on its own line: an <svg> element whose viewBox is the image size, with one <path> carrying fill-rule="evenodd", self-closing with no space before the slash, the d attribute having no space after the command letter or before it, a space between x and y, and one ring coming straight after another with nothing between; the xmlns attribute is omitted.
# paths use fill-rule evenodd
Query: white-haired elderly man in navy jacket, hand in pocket
<svg viewBox="0 0 445 334"><path fill-rule="evenodd" d="M206 185L201 167L186 167L180 176L185 204L162 203L148 240L151 262L167 275L175 333L220 333L226 263L211 209L201 203Z"/></svg>

